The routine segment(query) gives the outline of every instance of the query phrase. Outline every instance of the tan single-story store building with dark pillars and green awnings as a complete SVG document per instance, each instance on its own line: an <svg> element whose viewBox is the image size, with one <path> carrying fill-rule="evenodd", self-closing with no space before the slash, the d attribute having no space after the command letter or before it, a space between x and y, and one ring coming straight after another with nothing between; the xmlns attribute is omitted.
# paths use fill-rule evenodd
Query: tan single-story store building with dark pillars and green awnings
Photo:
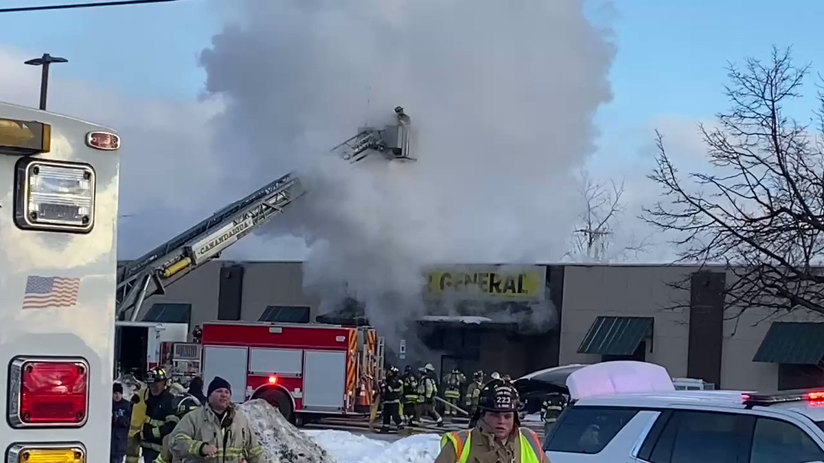
<svg viewBox="0 0 824 463"><path fill-rule="evenodd" d="M467 274L466 266L460 268ZM448 267L433 274L444 271ZM389 358L513 377L568 363L637 359L667 367L674 377L701 378L724 389L790 389L824 381L822 317L760 307L737 315L738 309L724 306L723 290L733 278L724 269L532 265L503 273L514 279L497 286L480 282L486 289L478 292L430 284L424 291L435 301L430 315L420 317L401 339L386 340ZM483 273L473 275L478 274ZM538 274L542 291L533 281ZM531 290L522 281L518 292L518 275L532 281ZM444 311L442 297L466 299L470 308L458 304L456 313L451 303ZM213 261L165 295L148 298L138 320L186 321L192 327L208 320L308 323L320 315L319 305L303 290L300 262ZM551 312L550 322L536 327L518 321L539 307Z"/></svg>

